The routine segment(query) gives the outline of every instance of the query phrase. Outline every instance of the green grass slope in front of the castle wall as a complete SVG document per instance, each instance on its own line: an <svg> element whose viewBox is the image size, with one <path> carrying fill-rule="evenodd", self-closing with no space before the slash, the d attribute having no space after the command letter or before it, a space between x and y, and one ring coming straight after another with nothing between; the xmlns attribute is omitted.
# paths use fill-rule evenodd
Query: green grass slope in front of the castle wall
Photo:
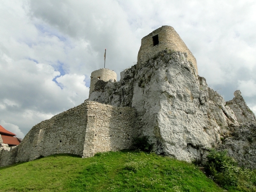
<svg viewBox="0 0 256 192"><path fill-rule="evenodd" d="M0 192L219 192L193 164L144 152L52 155L0 168Z"/></svg>

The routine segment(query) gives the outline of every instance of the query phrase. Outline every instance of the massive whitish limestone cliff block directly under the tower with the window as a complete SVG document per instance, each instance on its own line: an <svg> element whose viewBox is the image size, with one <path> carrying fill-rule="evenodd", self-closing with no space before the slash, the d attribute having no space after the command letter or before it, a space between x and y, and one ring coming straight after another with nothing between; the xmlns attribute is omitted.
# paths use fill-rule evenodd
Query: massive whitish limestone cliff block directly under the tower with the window
<svg viewBox="0 0 256 192"><path fill-rule="evenodd" d="M157 153L190 162L220 143L208 87L199 79L180 52L160 53L135 75L132 107L140 119L139 134L151 137Z"/></svg>

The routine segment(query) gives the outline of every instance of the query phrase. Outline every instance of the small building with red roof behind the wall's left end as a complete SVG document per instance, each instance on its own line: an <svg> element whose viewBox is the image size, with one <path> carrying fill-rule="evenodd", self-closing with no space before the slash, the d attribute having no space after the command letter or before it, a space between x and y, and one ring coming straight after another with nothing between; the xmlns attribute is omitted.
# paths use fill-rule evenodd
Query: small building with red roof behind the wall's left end
<svg viewBox="0 0 256 192"><path fill-rule="evenodd" d="M0 144L6 144L9 147L19 145L21 140L15 136L14 133L7 131L0 125Z"/></svg>

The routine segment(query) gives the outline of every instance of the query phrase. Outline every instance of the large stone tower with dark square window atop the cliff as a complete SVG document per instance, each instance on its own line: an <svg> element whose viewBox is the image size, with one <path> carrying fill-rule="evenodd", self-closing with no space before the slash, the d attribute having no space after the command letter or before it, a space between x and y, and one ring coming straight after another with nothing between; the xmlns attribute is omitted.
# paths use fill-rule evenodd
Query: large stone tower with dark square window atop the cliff
<svg viewBox="0 0 256 192"><path fill-rule="evenodd" d="M175 52L186 52L187 60L195 67L198 74L197 63L192 52L186 47L180 36L171 26L161 26L142 38L138 53L137 68L143 66L148 59L153 58L157 53L164 49L170 49Z"/></svg>

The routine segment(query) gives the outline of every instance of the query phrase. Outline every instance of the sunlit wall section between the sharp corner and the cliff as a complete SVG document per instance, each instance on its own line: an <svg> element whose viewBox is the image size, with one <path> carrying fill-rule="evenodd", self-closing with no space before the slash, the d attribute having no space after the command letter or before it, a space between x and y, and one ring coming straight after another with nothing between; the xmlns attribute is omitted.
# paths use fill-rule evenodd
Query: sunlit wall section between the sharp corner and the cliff
<svg viewBox="0 0 256 192"><path fill-rule="evenodd" d="M135 110L89 102L83 157L131 147Z"/></svg>

